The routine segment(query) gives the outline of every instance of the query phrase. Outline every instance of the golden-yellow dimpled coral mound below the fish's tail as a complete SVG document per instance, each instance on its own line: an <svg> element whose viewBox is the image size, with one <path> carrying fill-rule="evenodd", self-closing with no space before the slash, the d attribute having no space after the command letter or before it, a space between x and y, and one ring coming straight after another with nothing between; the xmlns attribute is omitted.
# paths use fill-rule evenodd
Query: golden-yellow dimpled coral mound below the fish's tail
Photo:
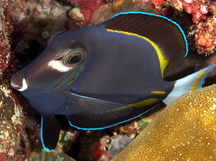
<svg viewBox="0 0 216 161"><path fill-rule="evenodd" d="M168 105L113 161L216 160L216 85Z"/></svg>

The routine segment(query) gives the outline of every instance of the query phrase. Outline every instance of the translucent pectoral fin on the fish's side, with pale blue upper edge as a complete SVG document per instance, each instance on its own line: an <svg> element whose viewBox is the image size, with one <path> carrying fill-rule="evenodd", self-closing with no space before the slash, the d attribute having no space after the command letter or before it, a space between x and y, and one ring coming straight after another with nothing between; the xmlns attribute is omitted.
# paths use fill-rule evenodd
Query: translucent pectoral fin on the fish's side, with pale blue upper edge
<svg viewBox="0 0 216 161"><path fill-rule="evenodd" d="M70 93L68 99L68 108L72 108L74 113L90 119L115 119L128 115L132 107L121 103L101 100L97 98L82 96Z"/></svg>

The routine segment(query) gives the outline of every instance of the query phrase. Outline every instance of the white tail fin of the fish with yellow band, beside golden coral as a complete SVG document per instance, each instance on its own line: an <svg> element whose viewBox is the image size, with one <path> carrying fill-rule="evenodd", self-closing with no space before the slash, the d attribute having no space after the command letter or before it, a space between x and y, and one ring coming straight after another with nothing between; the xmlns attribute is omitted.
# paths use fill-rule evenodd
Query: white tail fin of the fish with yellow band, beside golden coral
<svg viewBox="0 0 216 161"><path fill-rule="evenodd" d="M188 75L176 81L173 90L163 100L165 104L170 104L172 101L181 95L194 91L195 89L202 88L207 75L216 67L216 64L210 65L196 73Z"/></svg>

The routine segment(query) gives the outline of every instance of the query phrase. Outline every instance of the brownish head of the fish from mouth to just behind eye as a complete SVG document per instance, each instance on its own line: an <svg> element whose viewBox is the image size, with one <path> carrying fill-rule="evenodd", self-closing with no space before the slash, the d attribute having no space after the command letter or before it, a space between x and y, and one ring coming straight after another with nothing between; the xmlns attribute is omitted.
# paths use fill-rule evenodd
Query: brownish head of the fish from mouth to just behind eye
<svg viewBox="0 0 216 161"><path fill-rule="evenodd" d="M17 72L11 85L21 93L42 94L63 88L82 71L87 57L85 46L65 33L56 35L47 48Z"/></svg>

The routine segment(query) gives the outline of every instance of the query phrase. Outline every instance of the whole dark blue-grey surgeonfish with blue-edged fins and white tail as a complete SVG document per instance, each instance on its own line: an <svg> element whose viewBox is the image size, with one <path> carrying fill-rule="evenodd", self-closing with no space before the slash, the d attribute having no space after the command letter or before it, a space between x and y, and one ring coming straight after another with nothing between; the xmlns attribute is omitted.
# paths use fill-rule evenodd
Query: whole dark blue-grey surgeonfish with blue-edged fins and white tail
<svg viewBox="0 0 216 161"><path fill-rule="evenodd" d="M83 130L108 128L169 104L201 88L215 65L170 82L171 60L185 57L186 36L174 21L151 13L119 13L99 25L57 34L47 48L17 72L11 85L41 116L41 140L55 148L55 115Z"/></svg>

